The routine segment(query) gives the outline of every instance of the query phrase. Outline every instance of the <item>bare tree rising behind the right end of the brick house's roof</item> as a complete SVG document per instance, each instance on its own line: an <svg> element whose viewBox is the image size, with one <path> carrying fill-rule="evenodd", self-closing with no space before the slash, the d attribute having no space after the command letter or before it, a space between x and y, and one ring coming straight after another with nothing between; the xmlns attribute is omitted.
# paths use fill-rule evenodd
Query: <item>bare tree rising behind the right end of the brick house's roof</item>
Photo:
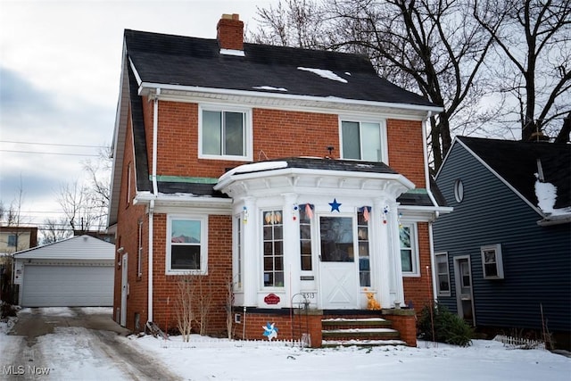
<svg viewBox="0 0 571 381"><path fill-rule="evenodd" d="M286 4L291 12L293 5L317 7L309 0ZM254 39L291 36L294 32L282 29L298 28L304 41L311 41L307 32L317 30L320 46L367 54L381 76L443 106L444 112L431 117L429 134L437 170L451 146L452 126L471 131L490 117L479 102L488 92L482 69L493 38L474 21L470 10L470 0L326 0L319 8L317 26L299 30L296 23L280 21L287 13L280 3L277 10L259 9L266 31ZM292 42L286 37L280 41Z"/></svg>

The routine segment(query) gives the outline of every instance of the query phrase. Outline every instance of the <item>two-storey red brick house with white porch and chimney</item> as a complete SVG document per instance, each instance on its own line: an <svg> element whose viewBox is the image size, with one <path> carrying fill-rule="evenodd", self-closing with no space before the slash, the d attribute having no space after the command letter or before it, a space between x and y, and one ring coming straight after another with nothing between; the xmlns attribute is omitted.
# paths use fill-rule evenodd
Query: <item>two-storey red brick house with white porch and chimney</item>
<svg viewBox="0 0 571 381"><path fill-rule="evenodd" d="M424 123L442 109L359 55L246 44L243 27L233 14L216 39L125 31L115 319L175 327L179 276L194 274L210 287L211 334L230 317L237 337L273 322L319 346L322 320L374 314L416 344L431 223L450 211L426 159Z"/></svg>

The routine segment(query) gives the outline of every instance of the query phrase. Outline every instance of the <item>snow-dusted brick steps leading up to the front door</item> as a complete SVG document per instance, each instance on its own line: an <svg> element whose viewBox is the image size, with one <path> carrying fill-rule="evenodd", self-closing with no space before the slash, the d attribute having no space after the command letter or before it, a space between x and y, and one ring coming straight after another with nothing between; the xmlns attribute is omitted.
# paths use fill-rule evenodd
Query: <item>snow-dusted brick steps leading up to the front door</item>
<svg viewBox="0 0 571 381"><path fill-rule="evenodd" d="M389 320L382 318L322 319L324 347L406 345Z"/></svg>

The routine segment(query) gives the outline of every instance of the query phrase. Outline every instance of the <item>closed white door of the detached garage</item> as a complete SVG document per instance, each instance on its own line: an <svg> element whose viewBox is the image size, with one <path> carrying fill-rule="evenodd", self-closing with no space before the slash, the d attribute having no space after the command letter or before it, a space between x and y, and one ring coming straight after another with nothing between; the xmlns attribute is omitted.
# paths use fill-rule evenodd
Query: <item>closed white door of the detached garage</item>
<svg viewBox="0 0 571 381"><path fill-rule="evenodd" d="M113 266L25 266L23 307L113 304Z"/></svg>

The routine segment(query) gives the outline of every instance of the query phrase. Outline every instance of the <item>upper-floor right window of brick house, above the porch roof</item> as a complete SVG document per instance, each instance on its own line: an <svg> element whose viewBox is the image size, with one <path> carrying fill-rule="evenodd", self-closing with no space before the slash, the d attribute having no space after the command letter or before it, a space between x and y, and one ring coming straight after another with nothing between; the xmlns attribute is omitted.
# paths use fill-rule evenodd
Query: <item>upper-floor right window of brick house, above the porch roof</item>
<svg viewBox="0 0 571 381"><path fill-rule="evenodd" d="M385 124L378 121L342 120L343 159L386 162Z"/></svg>

